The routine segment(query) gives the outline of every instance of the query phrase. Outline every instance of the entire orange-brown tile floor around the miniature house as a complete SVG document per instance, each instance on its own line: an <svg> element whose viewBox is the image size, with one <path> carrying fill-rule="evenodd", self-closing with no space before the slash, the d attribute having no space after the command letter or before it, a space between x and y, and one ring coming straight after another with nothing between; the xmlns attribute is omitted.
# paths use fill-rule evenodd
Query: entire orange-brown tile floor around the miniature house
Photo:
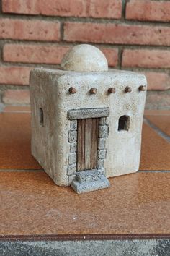
<svg viewBox="0 0 170 256"><path fill-rule="evenodd" d="M30 153L30 108L0 113L0 236L170 234L170 111L146 111L140 171L109 189L58 187Z"/></svg>

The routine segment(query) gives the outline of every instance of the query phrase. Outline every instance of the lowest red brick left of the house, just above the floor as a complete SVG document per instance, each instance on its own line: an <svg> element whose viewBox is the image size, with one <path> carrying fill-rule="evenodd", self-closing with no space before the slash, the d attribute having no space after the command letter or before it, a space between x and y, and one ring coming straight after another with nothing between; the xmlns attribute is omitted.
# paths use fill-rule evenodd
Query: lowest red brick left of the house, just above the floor
<svg viewBox="0 0 170 256"><path fill-rule="evenodd" d="M2 101L9 105L27 105L30 104L30 92L29 90L6 90Z"/></svg>

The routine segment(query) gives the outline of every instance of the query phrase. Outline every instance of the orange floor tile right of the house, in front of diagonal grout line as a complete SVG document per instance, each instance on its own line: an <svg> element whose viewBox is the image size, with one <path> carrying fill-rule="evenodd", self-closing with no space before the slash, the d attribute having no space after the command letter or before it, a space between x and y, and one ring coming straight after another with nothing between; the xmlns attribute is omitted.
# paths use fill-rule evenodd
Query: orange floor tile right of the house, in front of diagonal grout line
<svg viewBox="0 0 170 256"><path fill-rule="evenodd" d="M170 143L143 124L140 170L170 170Z"/></svg>

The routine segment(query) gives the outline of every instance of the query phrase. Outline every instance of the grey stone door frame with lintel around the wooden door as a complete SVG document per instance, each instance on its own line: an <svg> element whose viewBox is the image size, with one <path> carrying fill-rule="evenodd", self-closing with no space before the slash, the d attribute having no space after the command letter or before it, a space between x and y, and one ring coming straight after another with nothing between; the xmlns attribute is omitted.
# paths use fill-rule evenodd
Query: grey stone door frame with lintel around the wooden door
<svg viewBox="0 0 170 256"><path fill-rule="evenodd" d="M109 108L81 108L68 110L68 120L70 120L70 130L68 131L68 143L70 152L68 153L68 184L71 184L76 177L77 172L77 120L99 118L98 146L97 146L97 171L104 174L104 160L107 157L106 139L109 135L109 126L107 117Z"/></svg>

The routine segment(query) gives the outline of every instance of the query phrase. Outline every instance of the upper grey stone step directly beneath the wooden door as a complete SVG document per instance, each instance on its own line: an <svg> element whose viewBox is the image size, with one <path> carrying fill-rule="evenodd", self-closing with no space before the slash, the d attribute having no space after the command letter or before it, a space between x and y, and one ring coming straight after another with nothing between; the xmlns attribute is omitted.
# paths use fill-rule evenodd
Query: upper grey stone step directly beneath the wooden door
<svg viewBox="0 0 170 256"><path fill-rule="evenodd" d="M86 170L76 172L76 180L82 182L95 182L102 178L102 171L99 170Z"/></svg>

